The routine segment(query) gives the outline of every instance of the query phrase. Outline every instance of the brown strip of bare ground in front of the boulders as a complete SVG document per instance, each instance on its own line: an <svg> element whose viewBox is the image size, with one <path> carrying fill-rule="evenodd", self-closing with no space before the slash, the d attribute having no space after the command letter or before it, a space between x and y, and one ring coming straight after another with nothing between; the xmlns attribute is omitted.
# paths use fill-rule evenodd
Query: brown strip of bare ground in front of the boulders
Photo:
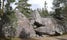
<svg viewBox="0 0 67 40"><path fill-rule="evenodd" d="M67 34L63 36L43 36L43 37L35 37L31 39L12 38L11 40L67 40Z"/></svg>

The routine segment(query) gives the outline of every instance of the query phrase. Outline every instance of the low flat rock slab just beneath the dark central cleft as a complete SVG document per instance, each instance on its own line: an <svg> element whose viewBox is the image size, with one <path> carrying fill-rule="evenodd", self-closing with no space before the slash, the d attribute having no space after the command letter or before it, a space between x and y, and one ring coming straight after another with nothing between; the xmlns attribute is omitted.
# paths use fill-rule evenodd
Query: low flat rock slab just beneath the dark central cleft
<svg viewBox="0 0 67 40"><path fill-rule="evenodd" d="M40 35L55 35L55 31L48 27L39 27L35 29L36 32L40 33Z"/></svg>

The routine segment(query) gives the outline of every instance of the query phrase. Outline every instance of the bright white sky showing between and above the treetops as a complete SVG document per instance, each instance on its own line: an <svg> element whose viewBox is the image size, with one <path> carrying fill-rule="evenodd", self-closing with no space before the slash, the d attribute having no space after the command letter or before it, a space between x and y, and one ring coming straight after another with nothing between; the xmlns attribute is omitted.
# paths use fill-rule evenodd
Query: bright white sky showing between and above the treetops
<svg viewBox="0 0 67 40"><path fill-rule="evenodd" d="M51 11L53 0L29 0L28 3L32 4L31 8L34 10L34 9L37 9L37 8L43 8L45 1L47 2L48 11ZM14 4L12 4L12 6L13 6L13 8L16 7Z"/></svg>

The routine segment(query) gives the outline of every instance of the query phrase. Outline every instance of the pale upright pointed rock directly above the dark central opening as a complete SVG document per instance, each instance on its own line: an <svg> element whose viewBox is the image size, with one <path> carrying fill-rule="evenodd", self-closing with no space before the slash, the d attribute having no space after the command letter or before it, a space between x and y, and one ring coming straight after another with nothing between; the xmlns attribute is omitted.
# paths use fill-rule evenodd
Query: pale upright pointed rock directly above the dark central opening
<svg viewBox="0 0 67 40"><path fill-rule="evenodd" d="M31 23L37 22L39 24L42 24L41 16L38 11L34 11L31 15L32 15Z"/></svg>

